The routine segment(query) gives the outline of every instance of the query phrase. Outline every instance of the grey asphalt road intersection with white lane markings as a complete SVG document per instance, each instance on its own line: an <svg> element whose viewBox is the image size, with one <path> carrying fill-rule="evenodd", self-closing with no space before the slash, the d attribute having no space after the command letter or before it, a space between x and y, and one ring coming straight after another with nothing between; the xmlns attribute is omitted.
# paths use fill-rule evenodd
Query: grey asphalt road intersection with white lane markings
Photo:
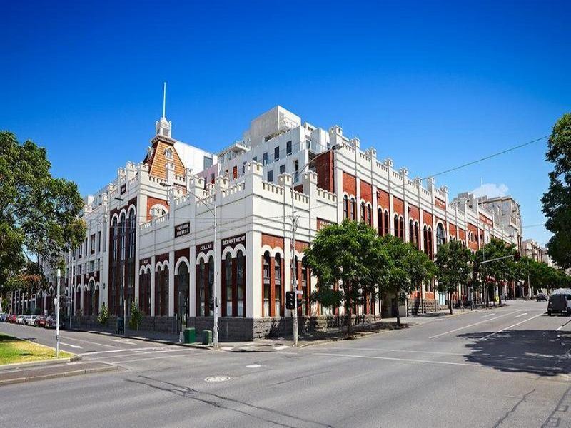
<svg viewBox="0 0 571 428"><path fill-rule="evenodd" d="M273 352L62 332L64 350L121 370L1 387L0 426L569 427L571 318L545 308L510 302Z"/></svg>

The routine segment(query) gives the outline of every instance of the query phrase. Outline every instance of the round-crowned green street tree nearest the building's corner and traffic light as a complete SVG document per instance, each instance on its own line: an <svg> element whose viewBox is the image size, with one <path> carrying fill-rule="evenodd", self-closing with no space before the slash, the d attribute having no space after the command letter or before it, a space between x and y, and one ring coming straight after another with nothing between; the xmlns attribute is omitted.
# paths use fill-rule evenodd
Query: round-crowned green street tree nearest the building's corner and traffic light
<svg viewBox="0 0 571 428"><path fill-rule="evenodd" d="M352 336L353 306L370 293L388 263L375 230L350 220L328 225L305 249L303 263L318 277L312 300L329 307L343 305L347 335Z"/></svg>

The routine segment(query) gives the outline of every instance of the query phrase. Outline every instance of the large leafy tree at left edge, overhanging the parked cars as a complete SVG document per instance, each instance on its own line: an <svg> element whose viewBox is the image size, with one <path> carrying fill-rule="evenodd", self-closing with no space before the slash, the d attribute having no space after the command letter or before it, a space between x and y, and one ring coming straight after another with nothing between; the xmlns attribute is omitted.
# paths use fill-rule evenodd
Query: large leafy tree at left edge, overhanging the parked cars
<svg viewBox="0 0 571 428"><path fill-rule="evenodd" d="M75 183L54 178L46 150L21 144L0 131L0 290L25 273L29 254L56 267L62 251L75 249L86 227L77 216L84 206Z"/></svg>

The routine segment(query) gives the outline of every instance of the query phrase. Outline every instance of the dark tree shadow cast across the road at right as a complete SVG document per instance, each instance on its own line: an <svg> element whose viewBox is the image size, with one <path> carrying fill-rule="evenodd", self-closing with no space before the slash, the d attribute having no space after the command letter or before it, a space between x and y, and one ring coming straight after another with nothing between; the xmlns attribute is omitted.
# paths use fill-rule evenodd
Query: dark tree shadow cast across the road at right
<svg viewBox="0 0 571 428"><path fill-rule="evenodd" d="M555 330L506 330L459 335L468 340L468 362L502 372L528 372L556 376L570 372L571 332ZM490 336L492 335L492 336Z"/></svg>

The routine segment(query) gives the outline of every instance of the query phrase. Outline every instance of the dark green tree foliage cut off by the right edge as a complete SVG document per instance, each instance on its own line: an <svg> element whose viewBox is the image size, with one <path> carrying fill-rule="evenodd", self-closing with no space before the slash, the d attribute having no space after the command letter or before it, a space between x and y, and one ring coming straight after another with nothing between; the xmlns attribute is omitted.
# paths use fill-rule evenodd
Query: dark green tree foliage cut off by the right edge
<svg viewBox="0 0 571 428"><path fill-rule="evenodd" d="M553 163L549 188L541 198L545 226L553 235L547 243L551 258L563 268L571 267L571 113L563 115L547 143L547 161Z"/></svg>

